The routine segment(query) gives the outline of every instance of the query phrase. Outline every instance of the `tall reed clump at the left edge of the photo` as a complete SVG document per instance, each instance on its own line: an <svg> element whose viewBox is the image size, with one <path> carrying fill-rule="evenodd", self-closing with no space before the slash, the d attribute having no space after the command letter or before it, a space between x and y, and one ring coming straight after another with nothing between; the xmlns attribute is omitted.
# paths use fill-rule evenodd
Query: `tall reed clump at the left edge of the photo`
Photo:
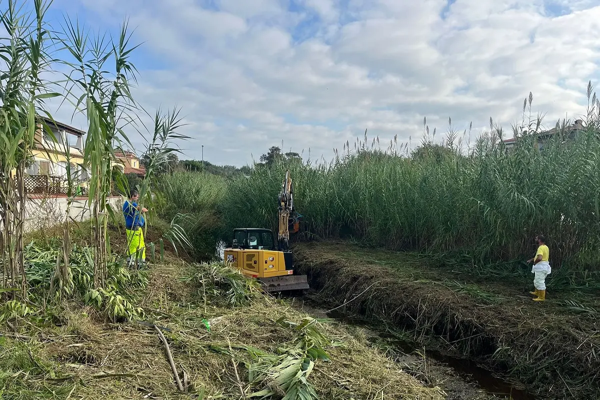
<svg viewBox="0 0 600 400"><path fill-rule="evenodd" d="M49 2L34 0L33 10L14 0L6 3L0 22L0 252L2 291L27 297L23 224L25 168L31 163L35 131L45 114L44 99L55 97L45 73L52 69L50 31L44 22Z"/></svg>

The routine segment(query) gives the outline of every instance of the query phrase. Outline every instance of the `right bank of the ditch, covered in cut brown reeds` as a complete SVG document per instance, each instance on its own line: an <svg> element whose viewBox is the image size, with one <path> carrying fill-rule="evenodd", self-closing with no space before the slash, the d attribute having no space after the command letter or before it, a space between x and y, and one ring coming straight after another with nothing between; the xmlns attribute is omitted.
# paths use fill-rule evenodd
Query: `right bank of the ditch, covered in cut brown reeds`
<svg viewBox="0 0 600 400"><path fill-rule="evenodd" d="M341 311L388 321L416 341L506 372L539 398L600 399L600 324L562 303L572 291L548 287L539 303L532 288L486 282L415 255L344 242L301 243L294 251L296 270L308 274L317 297ZM597 298L587 306L600 309Z"/></svg>

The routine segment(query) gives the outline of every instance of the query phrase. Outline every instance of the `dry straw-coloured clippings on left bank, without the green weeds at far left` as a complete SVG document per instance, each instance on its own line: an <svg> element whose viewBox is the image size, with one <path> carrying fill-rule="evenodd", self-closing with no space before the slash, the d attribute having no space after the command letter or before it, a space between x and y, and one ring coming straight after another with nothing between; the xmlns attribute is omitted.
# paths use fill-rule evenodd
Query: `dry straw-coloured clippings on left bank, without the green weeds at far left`
<svg viewBox="0 0 600 400"><path fill-rule="evenodd" d="M275 394L268 398L280 399L284 389L289 399L300 399L293 390L308 393L310 388L322 400L444 398L442 390L424 387L370 347L364 335L314 320L238 275L220 264L190 266L170 258L149 270L148 287L137 296L136 306L145 312L140 320L113 323L73 302L53 311L61 315L60 326L23 329L20 333L32 339L20 345L35 348L37 357L52 366L47 370L53 377L40 372L37 379L61 391L56 398L239 399L271 390ZM176 387L154 324L167 338L187 393ZM275 373L286 360L293 364L290 371L306 381ZM308 364L307 373L302 368ZM13 393L17 386L7 382L0 380ZM40 390L35 396L44 397Z"/></svg>

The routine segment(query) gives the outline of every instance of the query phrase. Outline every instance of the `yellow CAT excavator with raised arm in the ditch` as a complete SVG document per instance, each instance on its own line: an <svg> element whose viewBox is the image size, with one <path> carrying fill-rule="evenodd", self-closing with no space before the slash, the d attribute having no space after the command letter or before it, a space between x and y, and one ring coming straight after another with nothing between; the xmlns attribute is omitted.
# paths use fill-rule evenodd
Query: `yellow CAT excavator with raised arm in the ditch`
<svg viewBox="0 0 600 400"><path fill-rule="evenodd" d="M290 231L299 230L299 215L293 205L293 185L289 170L281 184L278 197L278 239L270 229L237 228L233 230L232 246L225 249L226 263L233 264L246 276L256 278L263 290L286 291L308 289L306 275L296 275L293 255L289 249Z"/></svg>

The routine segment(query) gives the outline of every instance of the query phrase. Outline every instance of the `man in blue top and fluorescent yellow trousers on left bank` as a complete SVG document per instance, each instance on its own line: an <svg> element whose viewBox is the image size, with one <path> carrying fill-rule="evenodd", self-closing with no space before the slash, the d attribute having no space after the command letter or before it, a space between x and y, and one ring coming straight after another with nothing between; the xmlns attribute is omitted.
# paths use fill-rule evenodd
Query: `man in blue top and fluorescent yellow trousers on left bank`
<svg viewBox="0 0 600 400"><path fill-rule="evenodd" d="M125 216L125 234L127 235L127 261L131 265L146 263L146 245L142 228L145 219L142 212L148 209L137 204L140 194L132 190L129 199L123 204L123 215Z"/></svg>

